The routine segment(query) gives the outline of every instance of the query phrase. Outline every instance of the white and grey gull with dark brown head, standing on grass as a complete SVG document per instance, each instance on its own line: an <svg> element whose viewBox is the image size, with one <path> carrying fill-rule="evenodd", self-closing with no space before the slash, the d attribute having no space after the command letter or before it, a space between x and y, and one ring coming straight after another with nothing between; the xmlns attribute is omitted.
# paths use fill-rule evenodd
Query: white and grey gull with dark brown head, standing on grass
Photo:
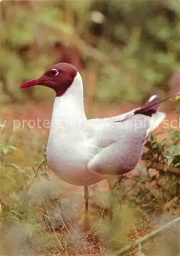
<svg viewBox="0 0 180 256"><path fill-rule="evenodd" d="M47 163L63 181L84 186L84 226L89 226L88 185L125 175L136 167L148 134L166 116L159 111L158 94L153 93L144 106L127 113L87 119L82 77L70 63L56 63L39 77L22 83L20 89L32 86L45 86L56 93Z"/></svg>

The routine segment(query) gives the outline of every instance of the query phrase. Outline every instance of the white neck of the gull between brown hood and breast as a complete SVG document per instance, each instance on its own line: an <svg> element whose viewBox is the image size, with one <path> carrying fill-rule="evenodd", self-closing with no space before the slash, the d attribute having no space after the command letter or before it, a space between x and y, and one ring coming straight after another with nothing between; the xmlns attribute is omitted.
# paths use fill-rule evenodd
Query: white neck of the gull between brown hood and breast
<svg viewBox="0 0 180 256"><path fill-rule="evenodd" d="M60 97L55 97L51 129L86 119L84 112L83 83L79 72L71 87Z"/></svg>

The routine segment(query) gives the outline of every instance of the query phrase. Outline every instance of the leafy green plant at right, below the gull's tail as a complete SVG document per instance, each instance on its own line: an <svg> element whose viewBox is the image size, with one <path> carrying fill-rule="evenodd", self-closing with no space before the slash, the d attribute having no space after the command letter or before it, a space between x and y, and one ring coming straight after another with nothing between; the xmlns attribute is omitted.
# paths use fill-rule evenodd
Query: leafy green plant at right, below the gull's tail
<svg viewBox="0 0 180 256"><path fill-rule="evenodd" d="M160 141L159 135L164 135L165 138ZM141 170L140 177L135 178L137 190L134 193L134 201L147 211L151 209L161 214L168 211L178 215L180 132L169 130L158 135L151 134L145 146L147 150L142 159L147 163L147 167Z"/></svg>

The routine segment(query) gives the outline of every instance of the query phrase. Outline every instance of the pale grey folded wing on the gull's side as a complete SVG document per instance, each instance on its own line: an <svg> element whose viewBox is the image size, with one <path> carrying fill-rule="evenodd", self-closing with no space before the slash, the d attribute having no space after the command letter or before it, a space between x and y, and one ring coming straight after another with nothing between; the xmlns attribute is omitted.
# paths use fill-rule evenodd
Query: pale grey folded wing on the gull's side
<svg viewBox="0 0 180 256"><path fill-rule="evenodd" d="M92 143L99 147L99 153L89 161L88 170L121 175L133 169L143 151L149 120L150 117L136 115L123 122L104 124L101 129L97 129Z"/></svg>

